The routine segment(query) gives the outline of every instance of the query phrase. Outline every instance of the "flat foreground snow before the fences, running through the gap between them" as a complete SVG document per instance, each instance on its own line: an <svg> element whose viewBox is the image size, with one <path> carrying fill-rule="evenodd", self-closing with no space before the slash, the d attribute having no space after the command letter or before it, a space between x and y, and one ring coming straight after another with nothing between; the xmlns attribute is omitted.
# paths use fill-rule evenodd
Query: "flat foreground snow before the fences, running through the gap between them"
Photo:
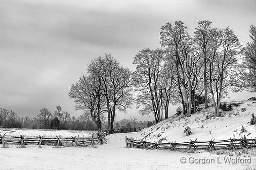
<svg viewBox="0 0 256 170"><path fill-rule="evenodd" d="M27 148L0 148L0 169L254 169L256 158L250 163L225 163L225 158L236 159L235 156L200 153L186 153L166 150L143 150L125 148L125 136L135 137L136 133L108 135L108 144L94 147L54 148L44 146L28 146ZM1 147L1 146L0 146ZM181 163L185 158L186 163ZM203 159L211 163L201 162ZM219 160L218 160L219 159ZM184 159L182 159L184 160ZM190 163L188 162L190 161ZM214 162L213 162L214 161ZM194 163L193 163L194 162ZM219 163L218 163L219 162Z"/></svg>

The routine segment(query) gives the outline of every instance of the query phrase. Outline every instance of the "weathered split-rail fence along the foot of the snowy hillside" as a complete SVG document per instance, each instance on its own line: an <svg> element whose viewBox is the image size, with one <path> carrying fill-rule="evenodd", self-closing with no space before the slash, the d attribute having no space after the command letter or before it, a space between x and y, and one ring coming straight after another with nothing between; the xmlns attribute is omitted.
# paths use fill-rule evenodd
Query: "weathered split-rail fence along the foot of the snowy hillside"
<svg viewBox="0 0 256 170"><path fill-rule="evenodd" d="M255 139L227 139L227 140L210 140L210 141L195 141L190 142L168 142L168 143L152 143L143 140L134 140L126 138L125 143L127 148L144 148L144 149L202 149L202 150L217 150L217 149L241 149L255 148Z"/></svg>

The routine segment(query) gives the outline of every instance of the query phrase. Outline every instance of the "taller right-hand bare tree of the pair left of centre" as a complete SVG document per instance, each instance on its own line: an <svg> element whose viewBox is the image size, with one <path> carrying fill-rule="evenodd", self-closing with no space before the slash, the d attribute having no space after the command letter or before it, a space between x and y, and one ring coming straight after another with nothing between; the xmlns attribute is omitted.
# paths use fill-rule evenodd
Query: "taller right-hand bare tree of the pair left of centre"
<svg viewBox="0 0 256 170"><path fill-rule="evenodd" d="M113 129L116 110L125 111L132 105L132 72L123 68L110 54L97 58L88 66L88 72L100 79L104 87L108 113L108 129Z"/></svg>

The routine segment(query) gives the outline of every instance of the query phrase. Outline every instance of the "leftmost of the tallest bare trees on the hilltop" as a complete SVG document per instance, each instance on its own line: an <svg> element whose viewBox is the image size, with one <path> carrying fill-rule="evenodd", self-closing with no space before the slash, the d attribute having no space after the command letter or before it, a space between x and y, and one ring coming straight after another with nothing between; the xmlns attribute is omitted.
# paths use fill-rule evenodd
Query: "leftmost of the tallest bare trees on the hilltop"
<svg viewBox="0 0 256 170"><path fill-rule="evenodd" d="M186 70L191 70L191 68L187 67L187 64L188 59L193 57L191 56L191 36L188 34L187 27L182 21L175 21L174 25L167 23L162 26L160 35L161 45L167 48L169 57L175 63L177 81L181 86L180 92L181 95L184 95L187 114L191 114L191 75L186 72Z"/></svg>

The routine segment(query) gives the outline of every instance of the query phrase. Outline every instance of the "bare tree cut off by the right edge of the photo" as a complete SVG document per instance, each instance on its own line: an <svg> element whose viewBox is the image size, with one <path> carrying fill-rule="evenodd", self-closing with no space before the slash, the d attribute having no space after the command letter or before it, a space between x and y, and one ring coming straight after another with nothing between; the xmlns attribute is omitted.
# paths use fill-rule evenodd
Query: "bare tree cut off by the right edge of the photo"
<svg viewBox="0 0 256 170"><path fill-rule="evenodd" d="M243 74L243 86L248 91L256 91L256 27L250 26L251 42L248 42L244 48L243 68L246 69Z"/></svg>

